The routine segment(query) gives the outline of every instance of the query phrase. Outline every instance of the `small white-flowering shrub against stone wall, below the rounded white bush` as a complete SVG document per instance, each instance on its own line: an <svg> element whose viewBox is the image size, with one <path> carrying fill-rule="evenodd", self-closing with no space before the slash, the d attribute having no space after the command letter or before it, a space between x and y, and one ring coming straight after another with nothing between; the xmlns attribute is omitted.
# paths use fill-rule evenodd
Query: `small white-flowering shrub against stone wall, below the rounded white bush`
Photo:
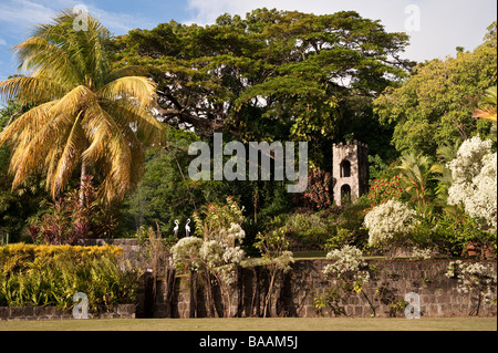
<svg viewBox="0 0 498 353"><path fill-rule="evenodd" d="M344 246L326 255L326 259L334 260L323 268L323 274L334 274L339 280L352 284L352 289L360 293L363 285L370 281L367 263L362 259L363 253L354 246Z"/></svg>

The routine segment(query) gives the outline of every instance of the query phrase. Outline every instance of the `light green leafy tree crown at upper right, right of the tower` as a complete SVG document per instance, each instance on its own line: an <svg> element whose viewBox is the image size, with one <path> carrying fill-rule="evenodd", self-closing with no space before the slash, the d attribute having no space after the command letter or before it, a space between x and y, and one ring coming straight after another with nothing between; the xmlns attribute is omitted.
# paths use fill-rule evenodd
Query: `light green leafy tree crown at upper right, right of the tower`
<svg viewBox="0 0 498 353"><path fill-rule="evenodd" d="M401 87L388 87L376 98L380 121L395 124L397 150L434 156L444 144L492 135L491 122L473 118L485 90L496 85L496 22L488 31L473 52L421 63Z"/></svg>

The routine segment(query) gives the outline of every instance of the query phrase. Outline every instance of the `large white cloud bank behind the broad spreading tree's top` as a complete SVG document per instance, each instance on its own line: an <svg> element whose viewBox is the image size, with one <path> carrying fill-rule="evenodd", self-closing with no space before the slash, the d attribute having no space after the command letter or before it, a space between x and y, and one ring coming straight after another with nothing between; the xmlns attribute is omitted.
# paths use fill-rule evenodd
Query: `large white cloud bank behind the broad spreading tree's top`
<svg viewBox="0 0 498 353"><path fill-rule="evenodd" d="M408 4L421 10L421 30L407 32L411 45L404 56L417 61L454 55L456 46L473 50L496 20L495 0L188 0L195 14L187 23L214 23L225 12L243 17L262 7L314 14L354 10L363 18L381 20L390 32L406 32Z"/></svg>

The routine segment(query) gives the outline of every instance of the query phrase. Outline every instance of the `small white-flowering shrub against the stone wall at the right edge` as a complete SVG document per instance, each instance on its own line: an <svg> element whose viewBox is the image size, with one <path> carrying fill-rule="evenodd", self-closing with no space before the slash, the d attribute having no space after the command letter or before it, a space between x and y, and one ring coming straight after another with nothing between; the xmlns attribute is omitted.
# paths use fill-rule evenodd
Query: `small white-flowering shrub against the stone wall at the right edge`
<svg viewBox="0 0 498 353"><path fill-rule="evenodd" d="M497 284L496 270L491 264L479 262L452 261L445 273L447 278L457 279L459 293L477 293L476 308L470 312L479 314L480 303L489 303Z"/></svg>

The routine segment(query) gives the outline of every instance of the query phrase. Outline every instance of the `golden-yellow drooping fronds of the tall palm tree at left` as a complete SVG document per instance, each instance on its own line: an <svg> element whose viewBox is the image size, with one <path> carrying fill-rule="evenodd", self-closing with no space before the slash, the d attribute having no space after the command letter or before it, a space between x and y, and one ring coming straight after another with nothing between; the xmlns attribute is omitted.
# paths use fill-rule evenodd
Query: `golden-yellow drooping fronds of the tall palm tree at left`
<svg viewBox="0 0 498 353"><path fill-rule="evenodd" d="M160 143L163 125L151 113L156 85L144 68L113 71L111 33L92 17L84 31L74 21L63 11L13 48L27 74L0 82L0 96L32 108L0 133L0 146L12 146L12 189L43 173L55 198L80 170L83 201L92 168L102 177L100 198L122 199L144 173L144 147Z"/></svg>

